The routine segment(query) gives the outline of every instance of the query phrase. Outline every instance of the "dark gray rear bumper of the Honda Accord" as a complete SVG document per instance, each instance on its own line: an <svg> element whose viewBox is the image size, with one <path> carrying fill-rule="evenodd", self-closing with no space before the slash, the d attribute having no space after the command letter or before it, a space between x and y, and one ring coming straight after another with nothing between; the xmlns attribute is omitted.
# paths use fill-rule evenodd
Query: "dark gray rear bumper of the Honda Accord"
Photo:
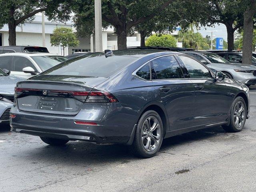
<svg viewBox="0 0 256 192"><path fill-rule="evenodd" d="M129 116L124 110L118 103L88 104L76 116L54 116L23 112L14 104L11 113L16 117L10 118L10 126L14 132L35 136L126 144L137 120L132 120L135 116ZM76 121L96 122L97 125L76 124Z"/></svg>

